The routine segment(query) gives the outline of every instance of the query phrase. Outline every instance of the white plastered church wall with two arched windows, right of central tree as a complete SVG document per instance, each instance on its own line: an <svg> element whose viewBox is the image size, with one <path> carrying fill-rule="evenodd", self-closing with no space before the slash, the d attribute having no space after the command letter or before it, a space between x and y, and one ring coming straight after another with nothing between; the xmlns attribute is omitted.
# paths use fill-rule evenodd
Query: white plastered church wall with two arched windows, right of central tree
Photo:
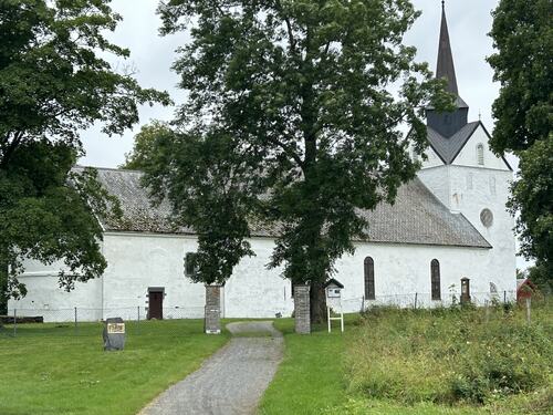
<svg viewBox="0 0 553 415"><path fill-rule="evenodd" d="M356 243L354 255L344 256L336 263L335 278L344 288L343 305L347 311L358 311L364 293L364 260L371 257L375 266L375 303L413 307L449 304L452 295L459 299L460 280L470 279L471 292L477 303L490 299L490 282L498 291L510 291L512 284L500 269L487 269L490 249L469 247L420 246L400 243ZM441 300L431 300L430 262L440 263ZM366 304L365 304L366 305Z"/></svg>

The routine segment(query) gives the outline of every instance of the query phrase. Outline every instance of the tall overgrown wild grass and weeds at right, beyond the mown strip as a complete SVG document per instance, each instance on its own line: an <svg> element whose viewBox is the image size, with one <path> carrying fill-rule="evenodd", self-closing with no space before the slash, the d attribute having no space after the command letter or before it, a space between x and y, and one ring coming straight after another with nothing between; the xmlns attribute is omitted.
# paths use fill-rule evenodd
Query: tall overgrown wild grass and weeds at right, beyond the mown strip
<svg viewBox="0 0 553 415"><path fill-rule="evenodd" d="M374 308L347 353L352 392L406 404L486 404L549 391L553 378L553 307Z"/></svg>

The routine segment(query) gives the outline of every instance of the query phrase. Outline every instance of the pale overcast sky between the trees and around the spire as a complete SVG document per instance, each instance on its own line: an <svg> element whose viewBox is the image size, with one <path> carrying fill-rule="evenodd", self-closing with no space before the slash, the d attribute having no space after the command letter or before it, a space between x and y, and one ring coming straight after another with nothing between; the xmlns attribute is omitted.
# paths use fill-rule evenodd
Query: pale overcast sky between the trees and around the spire
<svg viewBox="0 0 553 415"><path fill-rule="evenodd" d="M414 0L422 11L413 29L406 35L406 43L418 50L417 59L436 68L438 33L440 28L440 0ZM491 105L498 95L498 84L492 82L492 71L486 56L492 53L491 39L487 35L491 28L491 10L497 0L449 0L446 2L449 33L456 63L459 93L470 105L470 121L482 122L493 129ZM170 93L178 104L184 94L176 87L177 75L170 66L175 60L175 49L187 42L185 34L159 37L159 19L155 11L157 0L114 0L113 9L123 15L123 22L111 35L113 42L131 50L131 59L119 64L132 64L137 70L137 79L145 87L156 87ZM100 126L83 133L85 157L80 164L96 167L116 167L122 164L125 153L133 147L133 137L140 125L153 118L171 120L175 108L144 106L140 122L122 137L106 137Z"/></svg>

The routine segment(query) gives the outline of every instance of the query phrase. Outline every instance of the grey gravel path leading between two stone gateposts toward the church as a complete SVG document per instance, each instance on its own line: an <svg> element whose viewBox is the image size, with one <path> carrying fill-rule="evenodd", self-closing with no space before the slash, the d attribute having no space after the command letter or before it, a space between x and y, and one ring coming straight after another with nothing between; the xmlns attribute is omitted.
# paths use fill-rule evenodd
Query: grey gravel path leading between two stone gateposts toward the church
<svg viewBox="0 0 553 415"><path fill-rule="evenodd" d="M139 415L254 414L282 360L282 334L270 321L230 323L227 329L237 338Z"/></svg>

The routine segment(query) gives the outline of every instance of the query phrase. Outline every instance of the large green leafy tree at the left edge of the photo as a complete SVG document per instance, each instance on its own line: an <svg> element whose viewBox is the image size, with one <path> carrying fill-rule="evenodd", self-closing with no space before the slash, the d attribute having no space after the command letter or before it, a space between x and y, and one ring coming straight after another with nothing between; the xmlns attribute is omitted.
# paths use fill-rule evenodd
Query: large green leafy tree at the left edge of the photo
<svg viewBox="0 0 553 415"><path fill-rule="evenodd" d="M25 293L21 258L63 260L60 286L104 268L96 215L108 198L95 174L72 170L79 132L95 122L119 134L137 104L168 102L101 56L128 55L106 31L121 20L108 0L0 1L0 303Z"/></svg>

